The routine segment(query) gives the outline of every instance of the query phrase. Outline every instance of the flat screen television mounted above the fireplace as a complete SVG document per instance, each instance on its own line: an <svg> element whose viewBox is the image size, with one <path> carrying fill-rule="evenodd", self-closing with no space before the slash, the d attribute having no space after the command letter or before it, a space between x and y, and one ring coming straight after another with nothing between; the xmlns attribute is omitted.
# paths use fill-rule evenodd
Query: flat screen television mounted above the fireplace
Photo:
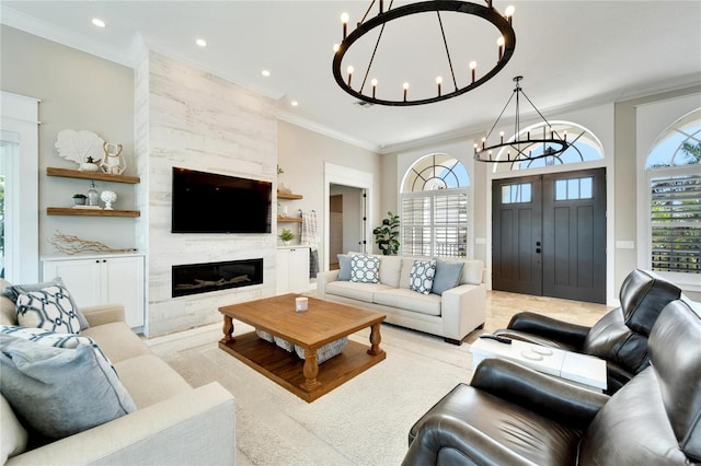
<svg viewBox="0 0 701 466"><path fill-rule="evenodd" d="M173 167L172 233L271 233L273 184Z"/></svg>

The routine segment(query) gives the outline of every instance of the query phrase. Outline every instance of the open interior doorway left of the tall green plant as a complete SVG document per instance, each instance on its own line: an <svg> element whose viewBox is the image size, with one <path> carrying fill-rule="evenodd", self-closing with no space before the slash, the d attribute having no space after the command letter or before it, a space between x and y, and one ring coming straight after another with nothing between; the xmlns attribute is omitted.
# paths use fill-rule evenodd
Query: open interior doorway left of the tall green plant
<svg viewBox="0 0 701 466"><path fill-rule="evenodd" d="M353 186L330 185L329 194L329 269L338 268L337 255L366 252L366 193Z"/></svg>

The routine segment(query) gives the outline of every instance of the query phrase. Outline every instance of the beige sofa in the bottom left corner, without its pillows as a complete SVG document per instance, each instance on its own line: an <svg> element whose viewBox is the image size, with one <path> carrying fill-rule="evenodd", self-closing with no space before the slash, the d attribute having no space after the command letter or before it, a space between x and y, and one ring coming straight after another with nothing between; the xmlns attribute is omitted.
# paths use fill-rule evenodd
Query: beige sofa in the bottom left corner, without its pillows
<svg viewBox="0 0 701 466"><path fill-rule="evenodd" d="M10 286L0 279L0 290ZM16 325L14 303L1 300L0 324ZM122 306L83 307L92 338L107 356L137 410L34 450L4 451L23 428L0 399L2 455L16 465L232 465L235 407L218 383L193 388L124 323ZM30 439L31 440L31 439Z"/></svg>

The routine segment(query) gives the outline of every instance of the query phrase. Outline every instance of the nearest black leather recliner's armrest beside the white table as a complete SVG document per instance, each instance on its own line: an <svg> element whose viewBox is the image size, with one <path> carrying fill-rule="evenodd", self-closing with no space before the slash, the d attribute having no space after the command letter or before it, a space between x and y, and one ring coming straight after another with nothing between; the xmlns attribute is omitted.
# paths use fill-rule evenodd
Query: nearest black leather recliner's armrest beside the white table
<svg viewBox="0 0 701 466"><path fill-rule="evenodd" d="M576 429L586 428L610 398L502 359L482 361L470 385Z"/></svg>

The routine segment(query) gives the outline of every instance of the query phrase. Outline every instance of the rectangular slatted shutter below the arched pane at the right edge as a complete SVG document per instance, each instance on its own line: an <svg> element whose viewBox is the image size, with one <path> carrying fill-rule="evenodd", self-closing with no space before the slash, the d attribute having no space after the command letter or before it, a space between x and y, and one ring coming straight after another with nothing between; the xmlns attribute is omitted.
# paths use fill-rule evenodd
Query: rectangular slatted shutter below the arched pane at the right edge
<svg viewBox="0 0 701 466"><path fill-rule="evenodd" d="M701 273L701 174L696 167L664 173L651 180L652 268Z"/></svg>

